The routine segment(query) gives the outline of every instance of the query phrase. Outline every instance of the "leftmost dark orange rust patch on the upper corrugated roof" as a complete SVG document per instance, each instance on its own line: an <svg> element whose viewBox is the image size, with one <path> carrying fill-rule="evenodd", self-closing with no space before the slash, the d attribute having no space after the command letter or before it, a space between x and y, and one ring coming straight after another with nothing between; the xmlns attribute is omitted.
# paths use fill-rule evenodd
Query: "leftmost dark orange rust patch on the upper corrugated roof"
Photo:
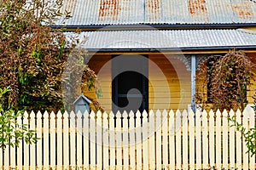
<svg viewBox="0 0 256 170"><path fill-rule="evenodd" d="M118 0L101 0L99 9L100 20L110 18L111 20L117 20L119 14Z"/></svg>

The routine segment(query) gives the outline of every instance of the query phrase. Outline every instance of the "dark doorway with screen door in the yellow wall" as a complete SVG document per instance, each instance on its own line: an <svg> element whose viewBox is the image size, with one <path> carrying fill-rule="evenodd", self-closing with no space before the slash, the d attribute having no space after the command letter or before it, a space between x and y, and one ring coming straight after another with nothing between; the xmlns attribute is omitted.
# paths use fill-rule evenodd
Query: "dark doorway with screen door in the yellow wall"
<svg viewBox="0 0 256 170"><path fill-rule="evenodd" d="M117 59L114 59L117 58ZM148 111L148 58L141 55L113 56L113 112Z"/></svg>

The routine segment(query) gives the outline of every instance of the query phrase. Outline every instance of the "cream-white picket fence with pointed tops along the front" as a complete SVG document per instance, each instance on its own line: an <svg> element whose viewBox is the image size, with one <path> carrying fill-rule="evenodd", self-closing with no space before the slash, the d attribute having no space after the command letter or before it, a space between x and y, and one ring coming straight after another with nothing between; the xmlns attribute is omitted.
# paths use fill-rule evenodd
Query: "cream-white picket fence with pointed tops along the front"
<svg viewBox="0 0 256 170"><path fill-rule="evenodd" d="M38 143L0 149L0 168L255 169L255 156L246 153L241 133L226 118L234 115L244 127L254 127L253 110L118 112L116 116L25 113L18 122L36 130Z"/></svg>

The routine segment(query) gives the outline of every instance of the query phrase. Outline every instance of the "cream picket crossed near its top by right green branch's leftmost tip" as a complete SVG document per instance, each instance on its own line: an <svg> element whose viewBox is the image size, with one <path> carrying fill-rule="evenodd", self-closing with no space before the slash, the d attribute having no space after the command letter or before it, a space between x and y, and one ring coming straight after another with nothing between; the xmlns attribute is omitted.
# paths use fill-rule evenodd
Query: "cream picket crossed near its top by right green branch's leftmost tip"
<svg viewBox="0 0 256 170"><path fill-rule="evenodd" d="M230 111L230 117L235 116L235 112L233 110ZM229 122L231 125L231 122ZM229 126L230 127L230 126ZM230 169L235 169L235 127L230 127Z"/></svg>

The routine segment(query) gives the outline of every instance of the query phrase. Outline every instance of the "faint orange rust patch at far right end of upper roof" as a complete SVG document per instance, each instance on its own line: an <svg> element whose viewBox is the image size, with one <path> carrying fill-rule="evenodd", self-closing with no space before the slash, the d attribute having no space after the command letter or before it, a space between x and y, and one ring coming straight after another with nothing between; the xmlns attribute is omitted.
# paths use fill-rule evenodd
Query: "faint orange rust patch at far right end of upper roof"
<svg viewBox="0 0 256 170"><path fill-rule="evenodd" d="M233 3L232 9L240 19L250 19L253 17L253 10L250 5L251 3Z"/></svg>

